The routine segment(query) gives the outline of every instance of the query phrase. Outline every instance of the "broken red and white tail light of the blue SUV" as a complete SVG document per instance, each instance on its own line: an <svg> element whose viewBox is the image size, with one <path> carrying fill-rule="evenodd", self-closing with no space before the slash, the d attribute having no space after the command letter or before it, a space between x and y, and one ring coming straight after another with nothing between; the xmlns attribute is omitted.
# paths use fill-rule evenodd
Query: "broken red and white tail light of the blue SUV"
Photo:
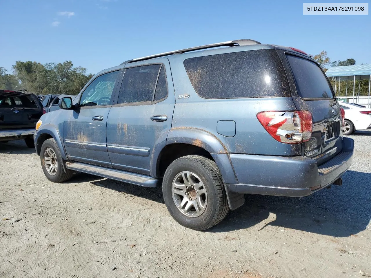
<svg viewBox="0 0 371 278"><path fill-rule="evenodd" d="M256 115L267 132L282 143L308 142L312 136L312 113L309 111L266 111Z"/></svg>

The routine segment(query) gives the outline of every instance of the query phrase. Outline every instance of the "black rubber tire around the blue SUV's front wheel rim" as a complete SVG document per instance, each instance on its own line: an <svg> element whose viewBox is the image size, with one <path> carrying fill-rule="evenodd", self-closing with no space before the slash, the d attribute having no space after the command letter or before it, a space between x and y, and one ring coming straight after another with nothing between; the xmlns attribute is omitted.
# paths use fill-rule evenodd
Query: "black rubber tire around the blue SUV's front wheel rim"
<svg viewBox="0 0 371 278"><path fill-rule="evenodd" d="M50 175L45 166L44 155L45 155L45 151L47 150L47 148L51 148L55 152L55 155L56 155L58 168L56 170L55 175ZM73 172L71 170L66 169L67 172L63 170L62 165L66 161L62 159L58 145L55 142L55 140L52 138L45 140L45 142L41 146L40 161L41 161L41 166L43 168L44 174L46 178L49 179L49 181L60 183L60 182L69 180L73 176Z"/></svg>

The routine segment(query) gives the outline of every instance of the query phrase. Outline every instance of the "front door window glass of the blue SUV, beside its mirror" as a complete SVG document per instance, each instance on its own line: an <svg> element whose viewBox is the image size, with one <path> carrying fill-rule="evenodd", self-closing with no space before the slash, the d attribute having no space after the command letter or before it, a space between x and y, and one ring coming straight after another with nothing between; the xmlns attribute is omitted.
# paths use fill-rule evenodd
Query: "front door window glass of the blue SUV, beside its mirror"
<svg viewBox="0 0 371 278"><path fill-rule="evenodd" d="M119 73L117 70L94 79L82 93L80 106L109 105Z"/></svg>

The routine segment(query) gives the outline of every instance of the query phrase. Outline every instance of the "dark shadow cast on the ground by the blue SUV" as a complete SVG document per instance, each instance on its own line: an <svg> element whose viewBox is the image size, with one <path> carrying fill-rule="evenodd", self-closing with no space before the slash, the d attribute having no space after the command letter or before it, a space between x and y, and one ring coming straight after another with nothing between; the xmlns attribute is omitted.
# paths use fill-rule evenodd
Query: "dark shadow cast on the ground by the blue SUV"
<svg viewBox="0 0 371 278"><path fill-rule="evenodd" d="M346 237L364 231L371 219L371 173L348 171L343 186L332 186L302 198L245 195L245 204L229 212L208 232L231 232L256 225L290 228ZM104 179L94 185L164 203L161 187L144 188Z"/></svg>

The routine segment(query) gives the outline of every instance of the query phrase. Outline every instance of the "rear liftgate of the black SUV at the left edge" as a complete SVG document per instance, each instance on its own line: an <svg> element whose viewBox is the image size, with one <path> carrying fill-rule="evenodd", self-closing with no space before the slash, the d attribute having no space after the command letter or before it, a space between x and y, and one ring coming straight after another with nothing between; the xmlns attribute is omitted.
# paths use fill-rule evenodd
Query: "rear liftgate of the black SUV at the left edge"
<svg viewBox="0 0 371 278"><path fill-rule="evenodd" d="M0 129L32 129L43 111L36 96L0 93Z"/></svg>

